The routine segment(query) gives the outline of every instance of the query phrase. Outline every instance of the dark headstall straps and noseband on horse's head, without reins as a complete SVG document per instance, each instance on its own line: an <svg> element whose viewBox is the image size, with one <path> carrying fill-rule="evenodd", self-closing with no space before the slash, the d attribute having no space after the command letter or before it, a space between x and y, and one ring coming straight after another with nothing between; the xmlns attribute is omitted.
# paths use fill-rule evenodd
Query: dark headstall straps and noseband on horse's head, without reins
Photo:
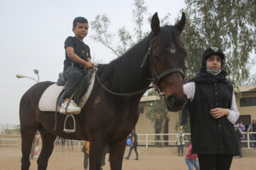
<svg viewBox="0 0 256 170"><path fill-rule="evenodd" d="M144 65L146 64L146 59L149 57L149 62L150 62L150 67L151 67L151 74L152 74L152 78L149 78L149 80L156 85L157 87L157 90L159 91L159 94L162 94L161 91L160 91L160 84L159 82L161 81L161 79L163 77L165 77L166 75L168 74L171 74L171 73L174 73L174 72L179 72L182 74L183 76L183 79L184 79L184 72L181 68L171 68L171 69L167 69L166 71L162 72L161 74L157 74L156 73L156 68L154 67L154 61L153 61L153 50L151 48L151 45L152 43L156 40L156 36L154 36L154 38L152 38L150 41L149 41L149 49L148 51L146 52L146 55L142 61L142 64L141 64L141 68L144 67Z"/></svg>

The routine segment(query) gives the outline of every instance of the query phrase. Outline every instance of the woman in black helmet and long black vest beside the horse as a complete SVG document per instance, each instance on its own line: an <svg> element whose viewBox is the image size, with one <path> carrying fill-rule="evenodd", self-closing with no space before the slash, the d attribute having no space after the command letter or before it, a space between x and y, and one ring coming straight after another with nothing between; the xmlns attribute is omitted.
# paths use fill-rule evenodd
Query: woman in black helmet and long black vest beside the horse
<svg viewBox="0 0 256 170"><path fill-rule="evenodd" d="M208 47L201 71L184 85L190 100L183 116L191 116L191 153L198 154L201 170L230 169L233 156L239 154L234 125L240 114L233 86L221 69L224 57L218 47Z"/></svg>

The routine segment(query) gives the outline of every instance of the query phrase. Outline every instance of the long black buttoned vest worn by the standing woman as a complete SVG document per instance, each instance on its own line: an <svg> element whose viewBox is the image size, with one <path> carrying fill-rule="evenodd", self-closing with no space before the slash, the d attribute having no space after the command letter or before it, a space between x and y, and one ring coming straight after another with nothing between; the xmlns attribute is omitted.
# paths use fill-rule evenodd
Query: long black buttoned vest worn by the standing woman
<svg viewBox="0 0 256 170"><path fill-rule="evenodd" d="M238 155L234 125L226 116L215 119L210 115L210 109L231 107L233 86L220 82L195 84L195 96L190 103L191 153Z"/></svg>

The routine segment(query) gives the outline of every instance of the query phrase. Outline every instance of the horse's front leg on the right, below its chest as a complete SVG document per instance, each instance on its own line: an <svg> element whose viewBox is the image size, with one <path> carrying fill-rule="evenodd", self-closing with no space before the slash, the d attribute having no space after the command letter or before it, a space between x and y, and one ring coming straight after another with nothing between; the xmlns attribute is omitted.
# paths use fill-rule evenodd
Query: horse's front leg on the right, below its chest
<svg viewBox="0 0 256 170"><path fill-rule="evenodd" d="M122 169L122 160L126 146L126 138L110 143L110 167L111 170Z"/></svg>

